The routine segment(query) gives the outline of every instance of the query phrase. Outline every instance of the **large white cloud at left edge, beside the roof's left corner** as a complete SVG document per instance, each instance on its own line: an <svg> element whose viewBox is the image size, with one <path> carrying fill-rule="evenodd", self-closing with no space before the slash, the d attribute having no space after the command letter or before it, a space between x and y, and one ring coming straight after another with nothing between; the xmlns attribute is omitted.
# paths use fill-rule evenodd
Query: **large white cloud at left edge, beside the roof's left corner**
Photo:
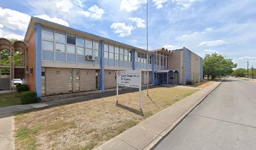
<svg viewBox="0 0 256 150"><path fill-rule="evenodd" d="M24 30L28 27L29 19L30 16L28 14L0 7L0 22L4 27L13 30Z"/></svg>

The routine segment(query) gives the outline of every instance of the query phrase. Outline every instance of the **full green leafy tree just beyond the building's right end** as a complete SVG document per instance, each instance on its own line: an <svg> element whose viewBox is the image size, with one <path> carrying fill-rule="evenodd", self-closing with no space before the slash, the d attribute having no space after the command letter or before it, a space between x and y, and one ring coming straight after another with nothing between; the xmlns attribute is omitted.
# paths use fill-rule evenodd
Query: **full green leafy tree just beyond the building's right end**
<svg viewBox="0 0 256 150"><path fill-rule="evenodd" d="M203 73L215 79L216 76L227 76L233 72L237 64L232 62L232 59L225 59L221 54L206 54L203 60Z"/></svg>

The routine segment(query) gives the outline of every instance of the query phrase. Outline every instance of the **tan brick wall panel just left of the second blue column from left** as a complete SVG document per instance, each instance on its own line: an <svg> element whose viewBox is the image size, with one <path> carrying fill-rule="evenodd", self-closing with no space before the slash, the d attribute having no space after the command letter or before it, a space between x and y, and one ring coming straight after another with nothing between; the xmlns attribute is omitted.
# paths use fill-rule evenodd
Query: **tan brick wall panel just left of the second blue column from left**
<svg viewBox="0 0 256 150"><path fill-rule="evenodd" d="M99 82L100 82L100 78L99 78ZM96 89L96 70L80 69L80 91L92 91L95 89Z"/></svg>

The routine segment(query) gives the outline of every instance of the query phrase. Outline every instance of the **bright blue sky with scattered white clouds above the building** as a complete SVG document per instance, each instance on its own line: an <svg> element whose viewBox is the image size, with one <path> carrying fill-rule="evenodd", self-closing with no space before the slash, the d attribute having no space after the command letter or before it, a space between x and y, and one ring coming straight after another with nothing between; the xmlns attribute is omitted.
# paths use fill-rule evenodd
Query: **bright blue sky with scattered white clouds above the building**
<svg viewBox="0 0 256 150"><path fill-rule="evenodd" d="M0 37L23 39L31 16L149 50L187 47L256 68L255 0L1 0Z"/></svg>

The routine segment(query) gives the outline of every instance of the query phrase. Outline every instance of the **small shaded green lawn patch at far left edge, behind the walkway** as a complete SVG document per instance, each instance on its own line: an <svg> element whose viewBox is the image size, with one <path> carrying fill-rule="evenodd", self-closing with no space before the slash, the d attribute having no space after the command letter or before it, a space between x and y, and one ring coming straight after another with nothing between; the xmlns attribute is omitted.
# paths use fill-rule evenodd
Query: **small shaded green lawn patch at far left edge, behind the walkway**
<svg viewBox="0 0 256 150"><path fill-rule="evenodd" d="M0 94L0 108L21 104L19 93Z"/></svg>

